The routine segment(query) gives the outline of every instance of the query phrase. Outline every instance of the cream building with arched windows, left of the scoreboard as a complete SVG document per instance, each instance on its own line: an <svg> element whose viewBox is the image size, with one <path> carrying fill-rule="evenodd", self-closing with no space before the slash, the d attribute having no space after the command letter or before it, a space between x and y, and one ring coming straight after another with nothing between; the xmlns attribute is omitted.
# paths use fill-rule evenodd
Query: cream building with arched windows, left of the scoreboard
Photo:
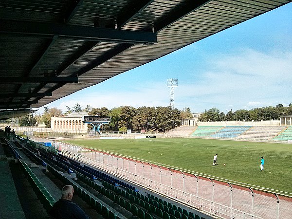
<svg viewBox="0 0 292 219"><path fill-rule="evenodd" d="M87 132L87 124L83 123L83 116L87 112L73 112L62 117L51 118L51 129L56 132Z"/></svg>

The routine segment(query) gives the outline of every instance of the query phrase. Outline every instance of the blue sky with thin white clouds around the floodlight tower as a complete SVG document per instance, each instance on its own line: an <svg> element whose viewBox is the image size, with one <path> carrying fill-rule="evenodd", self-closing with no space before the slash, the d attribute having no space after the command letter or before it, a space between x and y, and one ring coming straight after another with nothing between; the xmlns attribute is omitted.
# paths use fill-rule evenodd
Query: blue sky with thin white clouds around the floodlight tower
<svg viewBox="0 0 292 219"><path fill-rule="evenodd" d="M169 106L167 78L178 78L174 107L203 112L292 102L292 3L46 106ZM98 95L97 95L98 94ZM40 108L38 112L42 112Z"/></svg>

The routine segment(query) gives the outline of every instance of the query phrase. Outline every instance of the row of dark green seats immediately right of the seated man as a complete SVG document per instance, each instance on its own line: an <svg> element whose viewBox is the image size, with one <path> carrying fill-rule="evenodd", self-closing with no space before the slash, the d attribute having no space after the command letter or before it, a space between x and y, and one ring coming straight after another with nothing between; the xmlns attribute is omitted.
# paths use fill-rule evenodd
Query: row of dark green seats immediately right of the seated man
<svg viewBox="0 0 292 219"><path fill-rule="evenodd" d="M64 184L70 184L74 188L75 194L77 194L83 201L86 201L91 208L95 209L96 212L103 216L105 219L120 219L116 214L110 211L106 206L102 205L94 197L90 196L80 185L70 181L68 178L60 174L55 168L48 165L48 171L55 175Z"/></svg>

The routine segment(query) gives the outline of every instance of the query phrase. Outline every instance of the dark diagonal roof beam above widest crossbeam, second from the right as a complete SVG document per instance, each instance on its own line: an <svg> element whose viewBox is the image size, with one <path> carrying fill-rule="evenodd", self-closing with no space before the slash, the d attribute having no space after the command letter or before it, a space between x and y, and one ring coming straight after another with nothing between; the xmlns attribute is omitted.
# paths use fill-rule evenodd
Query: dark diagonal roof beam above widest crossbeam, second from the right
<svg viewBox="0 0 292 219"><path fill-rule="evenodd" d="M124 14L117 18L118 29L128 23L134 18L139 12L143 11L149 4L154 0L136 0L135 5L131 5L125 10Z"/></svg>

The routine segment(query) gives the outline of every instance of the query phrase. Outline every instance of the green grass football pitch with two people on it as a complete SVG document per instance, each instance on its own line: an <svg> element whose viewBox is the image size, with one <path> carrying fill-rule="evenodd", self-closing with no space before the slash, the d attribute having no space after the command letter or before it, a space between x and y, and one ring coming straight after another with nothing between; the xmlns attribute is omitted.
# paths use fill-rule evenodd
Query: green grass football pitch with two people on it
<svg viewBox="0 0 292 219"><path fill-rule="evenodd" d="M292 195L292 144L197 138L77 139L67 142ZM212 166L215 154L218 154L218 165ZM261 157L265 159L264 171L260 171Z"/></svg>

